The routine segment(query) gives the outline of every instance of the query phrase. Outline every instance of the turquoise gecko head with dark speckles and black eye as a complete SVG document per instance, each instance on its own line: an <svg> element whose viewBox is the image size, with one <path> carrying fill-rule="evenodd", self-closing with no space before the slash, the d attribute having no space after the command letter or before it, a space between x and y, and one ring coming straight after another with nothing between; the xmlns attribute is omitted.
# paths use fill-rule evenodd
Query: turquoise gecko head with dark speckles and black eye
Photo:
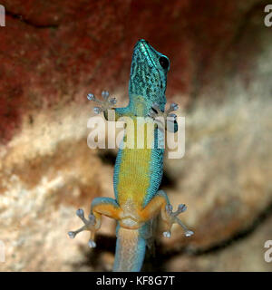
<svg viewBox="0 0 272 290"><path fill-rule="evenodd" d="M135 96L142 96L145 99L147 111L151 109L154 102L158 103L160 110L164 111L169 70L169 58L157 52L144 39L139 40L134 46L131 62L129 85L131 101L133 102L132 99Z"/></svg>

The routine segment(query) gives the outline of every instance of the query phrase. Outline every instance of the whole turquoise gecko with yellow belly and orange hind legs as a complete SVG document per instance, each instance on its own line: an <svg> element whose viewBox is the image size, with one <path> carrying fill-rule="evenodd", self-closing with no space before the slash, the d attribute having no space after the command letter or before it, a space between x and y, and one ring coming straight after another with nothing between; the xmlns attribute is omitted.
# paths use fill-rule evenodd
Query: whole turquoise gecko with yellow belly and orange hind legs
<svg viewBox="0 0 272 290"><path fill-rule="evenodd" d="M178 110L178 105L172 103L169 109L165 110L169 70L169 58L156 51L144 39L140 39L132 53L129 104L126 107L115 108L116 99L110 98L109 92L106 91L102 92L102 101L92 93L87 97L99 104L99 107L93 110L96 113L103 112L106 120L109 116L108 110L114 110L116 120L123 116L131 118L135 126L132 126L133 130L126 128L123 140L130 134L135 140L139 138L136 133L139 117L150 122L156 117L170 120L173 125L171 131L175 132L178 130L177 116L171 112ZM146 248L150 246L154 234L152 227L159 215L164 237L171 237L171 227L175 223L183 228L186 237L193 235L193 231L178 217L187 207L180 204L173 212L166 192L160 189L164 148L159 146L159 137L160 131L168 130L168 127L158 124L149 138L147 133L143 135L142 148L119 147L113 171L115 198L94 198L88 218L84 217L83 209L78 209L76 215L82 219L83 227L68 233L69 237L73 238L83 230L90 231L89 247L96 247L95 233L101 227L102 215L114 218L117 221L113 264L115 272L141 271Z"/></svg>

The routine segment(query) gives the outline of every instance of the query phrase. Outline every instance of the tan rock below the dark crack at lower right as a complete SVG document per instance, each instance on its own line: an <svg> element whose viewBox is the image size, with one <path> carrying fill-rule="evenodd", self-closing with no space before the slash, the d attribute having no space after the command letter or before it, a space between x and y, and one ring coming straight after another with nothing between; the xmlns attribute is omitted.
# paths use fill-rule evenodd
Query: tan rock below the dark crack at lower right
<svg viewBox="0 0 272 290"><path fill-rule="evenodd" d="M271 239L272 219L268 218L257 230L228 247L198 256L175 256L165 266L169 271L201 272L271 272L271 263L265 261L265 242Z"/></svg>

